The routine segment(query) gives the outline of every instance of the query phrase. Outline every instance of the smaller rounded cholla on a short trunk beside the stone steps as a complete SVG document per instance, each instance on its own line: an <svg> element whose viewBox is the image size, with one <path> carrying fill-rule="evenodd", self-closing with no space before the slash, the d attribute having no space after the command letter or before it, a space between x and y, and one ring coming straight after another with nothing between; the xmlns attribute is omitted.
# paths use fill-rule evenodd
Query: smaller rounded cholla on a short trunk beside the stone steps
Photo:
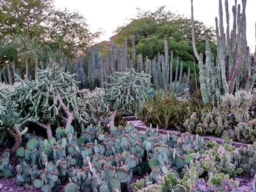
<svg viewBox="0 0 256 192"><path fill-rule="evenodd" d="M147 86L151 83L149 75L137 73L133 68L131 71L127 69L127 72L115 72L115 78L110 77L110 80L112 83L106 83L110 89L105 89L105 94L100 98L104 101L101 112L104 115L112 112L109 127L113 127L118 112L132 114L135 109L141 109L147 97Z"/></svg>

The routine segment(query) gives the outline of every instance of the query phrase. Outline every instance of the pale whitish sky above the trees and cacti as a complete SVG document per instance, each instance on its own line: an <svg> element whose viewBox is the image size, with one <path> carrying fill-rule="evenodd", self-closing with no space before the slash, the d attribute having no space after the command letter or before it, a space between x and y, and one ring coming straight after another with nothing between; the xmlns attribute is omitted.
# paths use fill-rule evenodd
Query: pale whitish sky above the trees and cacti
<svg viewBox="0 0 256 192"><path fill-rule="evenodd" d="M190 0L157 0L157 1L145 1L145 0L130 0L130 1L86 1L86 0L55 0L56 8L64 10L77 10L83 14L88 20L89 27L92 32L104 30L105 33L100 37L98 42L103 40L109 40L114 36L114 30L118 26L123 26L126 23L126 19L133 18L137 13L136 8L141 10L155 11L157 7L167 5L168 10L174 13L184 14L185 17L191 18L191 1ZM229 25L232 28L233 15L232 5L235 4L235 0L229 0ZM237 0L237 4L241 4L242 0ZM223 20L224 27L226 29L226 13L225 13L225 1L222 0L223 5ZM194 0L194 20L202 21L206 26L213 26L215 28L215 17L219 18L219 1L218 0ZM248 0L246 4L246 23L247 31L246 36L248 40L248 46L250 46L251 53L255 52L255 14L256 1ZM242 10L242 8L241 8Z"/></svg>

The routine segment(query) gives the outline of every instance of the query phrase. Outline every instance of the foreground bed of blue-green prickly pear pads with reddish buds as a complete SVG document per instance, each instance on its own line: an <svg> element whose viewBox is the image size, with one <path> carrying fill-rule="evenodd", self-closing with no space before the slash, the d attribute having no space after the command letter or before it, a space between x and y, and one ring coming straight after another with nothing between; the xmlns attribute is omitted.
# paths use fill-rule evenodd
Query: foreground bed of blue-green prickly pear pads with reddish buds
<svg viewBox="0 0 256 192"><path fill-rule="evenodd" d="M25 137L28 142L17 150L15 159L9 161L10 153L2 152L0 174L11 179L8 188L8 179L1 180L2 189L198 191L207 182L205 191L223 191L223 186L243 191L235 178L250 181L256 169L256 144L236 152L228 138L218 152L216 141L194 139L190 133L178 141L174 132L159 135L158 130L147 129L139 133L131 125L111 127L108 133L101 126L88 126L79 136L72 126L59 127L48 140L29 133Z"/></svg>

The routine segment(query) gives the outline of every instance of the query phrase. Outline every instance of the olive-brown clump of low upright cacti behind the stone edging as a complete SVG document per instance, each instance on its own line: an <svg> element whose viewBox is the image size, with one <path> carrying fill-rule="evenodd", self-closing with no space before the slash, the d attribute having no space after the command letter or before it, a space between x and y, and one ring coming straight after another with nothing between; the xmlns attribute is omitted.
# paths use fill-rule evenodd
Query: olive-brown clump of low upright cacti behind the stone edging
<svg viewBox="0 0 256 192"><path fill-rule="evenodd" d="M200 117L201 110L205 107L196 94L197 92L194 92L188 101L183 98L181 101L180 97L175 97L171 92L167 92L163 97L162 91L159 91L154 98L144 103L144 107L138 112L138 117L147 126L152 123L159 128L185 132L185 121L193 112Z"/></svg>

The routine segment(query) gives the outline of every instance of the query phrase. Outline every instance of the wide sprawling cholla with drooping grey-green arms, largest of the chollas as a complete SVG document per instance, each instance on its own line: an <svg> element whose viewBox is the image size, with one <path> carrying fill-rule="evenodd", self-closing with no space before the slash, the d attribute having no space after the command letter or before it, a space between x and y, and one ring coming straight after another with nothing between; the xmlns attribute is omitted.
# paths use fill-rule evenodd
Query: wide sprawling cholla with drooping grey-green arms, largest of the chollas
<svg viewBox="0 0 256 192"><path fill-rule="evenodd" d="M52 137L51 126L56 123L64 123L68 127L73 120L88 123L94 119L88 114L90 104L82 102L77 82L72 78L74 74L63 72L56 64L53 68L37 71L33 81L28 80L26 75L24 80L16 75L16 81L21 86L16 87L10 98L17 101L22 116L30 114L30 122L46 129L48 139Z"/></svg>

